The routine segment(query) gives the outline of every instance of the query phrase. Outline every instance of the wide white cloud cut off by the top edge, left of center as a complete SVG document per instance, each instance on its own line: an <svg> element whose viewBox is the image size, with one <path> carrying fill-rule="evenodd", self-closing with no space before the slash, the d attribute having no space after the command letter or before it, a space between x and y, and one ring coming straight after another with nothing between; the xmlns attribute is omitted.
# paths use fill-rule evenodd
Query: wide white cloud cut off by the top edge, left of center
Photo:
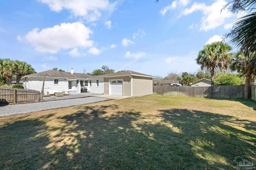
<svg viewBox="0 0 256 170"><path fill-rule="evenodd" d="M84 17L88 21L98 20L101 12L112 12L117 2L110 3L108 0L39 0L48 4L50 10L60 12L63 9L70 11L74 16Z"/></svg>

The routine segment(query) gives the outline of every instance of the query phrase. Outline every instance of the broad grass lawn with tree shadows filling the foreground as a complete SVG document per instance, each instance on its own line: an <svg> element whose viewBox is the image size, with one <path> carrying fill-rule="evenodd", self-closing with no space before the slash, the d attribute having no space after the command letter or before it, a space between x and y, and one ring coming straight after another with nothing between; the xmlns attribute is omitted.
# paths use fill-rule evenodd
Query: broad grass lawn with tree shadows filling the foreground
<svg viewBox="0 0 256 170"><path fill-rule="evenodd" d="M234 170L237 156L256 163L253 100L150 95L0 117L6 170Z"/></svg>

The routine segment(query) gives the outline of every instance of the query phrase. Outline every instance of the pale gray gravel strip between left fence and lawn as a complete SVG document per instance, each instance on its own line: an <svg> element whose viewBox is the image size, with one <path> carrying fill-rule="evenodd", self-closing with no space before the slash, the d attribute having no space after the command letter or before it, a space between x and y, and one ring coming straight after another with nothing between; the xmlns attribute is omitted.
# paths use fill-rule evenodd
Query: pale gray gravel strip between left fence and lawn
<svg viewBox="0 0 256 170"><path fill-rule="evenodd" d="M65 100L54 100L54 101L47 101L47 102L34 102L34 103L26 103L26 104L11 104L6 106L0 106L0 116L29 113L34 111L56 109L61 107L77 106L81 104L101 102L105 100L109 100L109 99L99 98L99 97L86 97L86 98L74 98L74 99L65 99Z"/></svg>

